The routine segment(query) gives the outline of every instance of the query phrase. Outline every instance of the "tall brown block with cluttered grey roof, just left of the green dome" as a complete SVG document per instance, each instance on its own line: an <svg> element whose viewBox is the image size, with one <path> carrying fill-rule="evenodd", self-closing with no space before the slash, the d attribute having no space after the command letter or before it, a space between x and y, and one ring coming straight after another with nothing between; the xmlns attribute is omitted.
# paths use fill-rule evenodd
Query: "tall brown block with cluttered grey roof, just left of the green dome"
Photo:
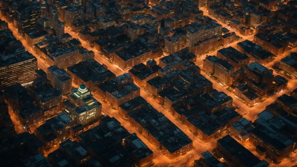
<svg viewBox="0 0 297 167"><path fill-rule="evenodd" d="M70 74L64 69L57 66L48 67L48 80L50 83L58 89L63 95L70 92L72 87L72 81Z"/></svg>

